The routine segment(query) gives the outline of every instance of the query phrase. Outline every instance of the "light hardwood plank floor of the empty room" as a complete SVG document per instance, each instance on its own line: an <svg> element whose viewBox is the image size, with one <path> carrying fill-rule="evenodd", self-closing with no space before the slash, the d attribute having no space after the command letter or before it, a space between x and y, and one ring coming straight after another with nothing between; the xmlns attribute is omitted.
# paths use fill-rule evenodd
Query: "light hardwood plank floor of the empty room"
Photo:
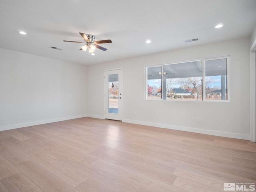
<svg viewBox="0 0 256 192"><path fill-rule="evenodd" d="M0 132L0 192L214 192L256 182L256 143L79 118Z"/></svg>

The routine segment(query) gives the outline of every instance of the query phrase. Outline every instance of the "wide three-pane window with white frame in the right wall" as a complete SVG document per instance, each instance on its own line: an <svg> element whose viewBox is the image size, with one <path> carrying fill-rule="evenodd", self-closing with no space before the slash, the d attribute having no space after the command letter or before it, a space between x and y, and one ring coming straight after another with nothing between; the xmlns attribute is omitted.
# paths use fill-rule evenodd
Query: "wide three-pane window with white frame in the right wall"
<svg viewBox="0 0 256 192"><path fill-rule="evenodd" d="M147 99L228 100L229 57L146 67Z"/></svg>

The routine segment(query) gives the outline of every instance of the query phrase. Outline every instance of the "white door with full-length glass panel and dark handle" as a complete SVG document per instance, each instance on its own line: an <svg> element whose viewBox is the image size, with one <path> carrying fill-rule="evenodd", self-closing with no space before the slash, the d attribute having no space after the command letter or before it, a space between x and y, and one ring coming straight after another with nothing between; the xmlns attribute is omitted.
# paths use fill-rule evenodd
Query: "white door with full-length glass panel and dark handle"
<svg viewBox="0 0 256 192"><path fill-rule="evenodd" d="M105 118L122 121L122 69L105 71Z"/></svg>

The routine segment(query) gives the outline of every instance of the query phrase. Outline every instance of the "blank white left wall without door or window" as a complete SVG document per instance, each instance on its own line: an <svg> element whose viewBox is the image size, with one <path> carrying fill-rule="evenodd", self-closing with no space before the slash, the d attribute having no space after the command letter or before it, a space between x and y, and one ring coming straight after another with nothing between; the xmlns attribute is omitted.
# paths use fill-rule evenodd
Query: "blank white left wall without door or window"
<svg viewBox="0 0 256 192"><path fill-rule="evenodd" d="M0 48L0 130L86 116L86 74L83 65Z"/></svg>

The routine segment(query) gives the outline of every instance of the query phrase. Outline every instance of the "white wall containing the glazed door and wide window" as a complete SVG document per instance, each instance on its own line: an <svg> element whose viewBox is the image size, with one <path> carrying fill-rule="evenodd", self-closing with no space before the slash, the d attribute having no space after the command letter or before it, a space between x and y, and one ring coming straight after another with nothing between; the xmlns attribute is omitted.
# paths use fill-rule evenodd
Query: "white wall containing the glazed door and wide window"
<svg viewBox="0 0 256 192"><path fill-rule="evenodd" d="M249 49L250 38L242 38L88 66L88 116L104 118L104 70L123 67L124 122L249 140ZM230 102L145 100L145 66L228 55Z"/></svg>

